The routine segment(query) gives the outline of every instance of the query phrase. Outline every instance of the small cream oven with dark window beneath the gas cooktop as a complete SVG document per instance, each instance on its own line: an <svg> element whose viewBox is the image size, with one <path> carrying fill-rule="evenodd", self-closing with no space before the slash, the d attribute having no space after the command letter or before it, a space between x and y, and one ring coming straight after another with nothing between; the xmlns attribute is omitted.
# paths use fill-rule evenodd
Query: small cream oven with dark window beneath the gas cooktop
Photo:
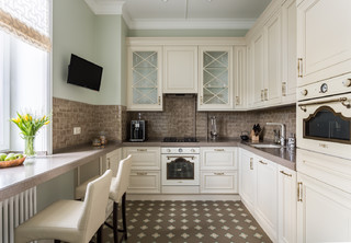
<svg viewBox="0 0 351 243"><path fill-rule="evenodd" d="M199 185L199 148L161 148L162 185Z"/></svg>

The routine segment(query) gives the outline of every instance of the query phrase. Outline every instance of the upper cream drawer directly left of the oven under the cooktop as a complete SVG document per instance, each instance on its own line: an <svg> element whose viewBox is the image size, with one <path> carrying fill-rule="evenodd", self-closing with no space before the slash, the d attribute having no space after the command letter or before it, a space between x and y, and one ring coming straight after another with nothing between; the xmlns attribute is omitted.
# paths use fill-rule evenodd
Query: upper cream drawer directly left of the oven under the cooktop
<svg viewBox="0 0 351 243"><path fill-rule="evenodd" d="M123 157L132 154L132 170L160 170L160 148L126 147Z"/></svg>

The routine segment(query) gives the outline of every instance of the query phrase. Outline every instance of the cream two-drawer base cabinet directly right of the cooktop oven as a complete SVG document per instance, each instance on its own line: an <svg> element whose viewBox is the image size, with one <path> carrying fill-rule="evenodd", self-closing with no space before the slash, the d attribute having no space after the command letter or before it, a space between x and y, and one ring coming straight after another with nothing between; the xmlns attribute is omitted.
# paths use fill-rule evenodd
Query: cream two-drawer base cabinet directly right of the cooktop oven
<svg viewBox="0 0 351 243"><path fill-rule="evenodd" d="M200 153L200 193L237 194L237 148L205 147Z"/></svg>

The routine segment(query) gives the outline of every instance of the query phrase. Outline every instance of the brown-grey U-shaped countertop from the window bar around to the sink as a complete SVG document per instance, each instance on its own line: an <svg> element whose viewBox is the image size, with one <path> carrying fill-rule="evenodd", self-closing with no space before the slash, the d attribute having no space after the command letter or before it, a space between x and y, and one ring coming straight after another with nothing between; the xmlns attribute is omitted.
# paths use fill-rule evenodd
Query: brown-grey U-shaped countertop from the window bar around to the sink
<svg viewBox="0 0 351 243"><path fill-rule="evenodd" d="M222 138L217 140L199 139L199 142L162 142L161 139L150 139L145 142L109 143L105 148L94 148L90 144L56 151L53 155L37 157L33 162L25 161L23 165L0 170L0 201L21 192L47 182L58 175L69 172L82 164L98 159L121 147L239 147L273 161L287 169L296 170L296 151L282 149L258 149L239 139Z"/></svg>

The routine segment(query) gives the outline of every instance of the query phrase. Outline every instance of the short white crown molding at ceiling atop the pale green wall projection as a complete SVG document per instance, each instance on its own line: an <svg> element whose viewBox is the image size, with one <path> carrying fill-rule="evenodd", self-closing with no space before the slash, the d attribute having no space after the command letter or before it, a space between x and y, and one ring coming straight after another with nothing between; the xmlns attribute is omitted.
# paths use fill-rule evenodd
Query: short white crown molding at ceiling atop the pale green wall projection
<svg viewBox="0 0 351 243"><path fill-rule="evenodd" d="M84 0L94 14L123 14L125 1Z"/></svg>

